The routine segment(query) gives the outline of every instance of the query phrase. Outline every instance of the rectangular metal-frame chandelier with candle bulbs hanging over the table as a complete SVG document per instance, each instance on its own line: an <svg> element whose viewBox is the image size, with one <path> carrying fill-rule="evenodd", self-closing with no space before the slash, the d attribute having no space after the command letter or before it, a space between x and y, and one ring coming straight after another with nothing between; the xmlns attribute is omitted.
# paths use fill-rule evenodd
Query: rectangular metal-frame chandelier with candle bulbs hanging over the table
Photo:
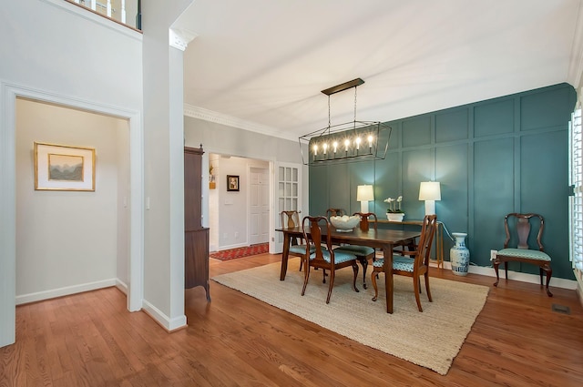
<svg viewBox="0 0 583 387"><path fill-rule="evenodd" d="M322 90L328 96L328 127L299 137L304 165L323 162L346 161L353 158L384 159L389 148L392 128L379 121L356 120L356 87L363 85L361 78ZM353 121L331 125L330 96L354 88ZM304 149L308 154L304 155Z"/></svg>

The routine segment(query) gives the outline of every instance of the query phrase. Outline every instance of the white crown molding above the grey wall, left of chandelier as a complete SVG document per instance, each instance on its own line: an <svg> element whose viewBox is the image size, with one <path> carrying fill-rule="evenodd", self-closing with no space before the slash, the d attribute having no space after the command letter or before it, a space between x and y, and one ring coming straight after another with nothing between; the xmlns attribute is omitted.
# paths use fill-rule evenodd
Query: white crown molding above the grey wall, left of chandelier
<svg viewBox="0 0 583 387"><path fill-rule="evenodd" d="M187 117L199 118L204 121L214 122L228 127L237 127L243 130L260 133L261 135L283 138L291 141L297 141L298 137L292 137L288 133L282 133L280 129L275 127L268 127L266 125L257 124L255 122L246 121L238 117L232 117L225 114L218 113L213 110L205 109L203 107L195 107L193 105L184 104L184 115Z"/></svg>

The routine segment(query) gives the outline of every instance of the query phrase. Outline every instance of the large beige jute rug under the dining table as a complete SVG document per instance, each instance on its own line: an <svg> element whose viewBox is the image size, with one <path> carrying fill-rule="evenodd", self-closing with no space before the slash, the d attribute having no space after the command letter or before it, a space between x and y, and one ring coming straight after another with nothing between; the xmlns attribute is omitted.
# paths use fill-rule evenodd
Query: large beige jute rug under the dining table
<svg viewBox="0 0 583 387"><path fill-rule="evenodd" d="M408 362L445 375L486 303L488 288L454 280L430 278L433 302L421 294L423 312L417 310L413 280L394 276L394 313L386 312L384 278L379 284L379 300L374 290L362 287L362 268L353 291L353 270L336 271L330 303L326 304L328 281L322 284L322 271L311 270L302 297L303 272L300 259L289 260L285 280L280 280L281 264L271 263L212 278L232 289L289 311L302 319L384 351ZM360 284L360 286L359 286Z"/></svg>

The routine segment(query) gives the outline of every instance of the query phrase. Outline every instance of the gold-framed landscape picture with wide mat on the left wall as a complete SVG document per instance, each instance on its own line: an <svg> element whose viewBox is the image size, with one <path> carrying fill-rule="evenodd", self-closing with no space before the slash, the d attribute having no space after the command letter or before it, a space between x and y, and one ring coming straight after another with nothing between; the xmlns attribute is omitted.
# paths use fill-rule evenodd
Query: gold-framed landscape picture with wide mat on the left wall
<svg viewBox="0 0 583 387"><path fill-rule="evenodd" d="M35 190L95 191L95 148L35 141Z"/></svg>

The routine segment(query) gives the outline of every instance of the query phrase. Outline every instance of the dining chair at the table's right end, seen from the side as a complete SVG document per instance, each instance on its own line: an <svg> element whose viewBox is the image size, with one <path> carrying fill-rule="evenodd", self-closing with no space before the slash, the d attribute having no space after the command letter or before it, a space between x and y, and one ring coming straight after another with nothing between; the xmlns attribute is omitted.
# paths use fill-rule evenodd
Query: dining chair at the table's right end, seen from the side
<svg viewBox="0 0 583 387"><path fill-rule="evenodd" d="M437 216L425 215L423 219L423 226L421 227L421 237L419 243L416 245L414 251L403 251L404 255L409 255L412 258L405 256L393 257L393 268L390 268L390 273L385 275L402 275L413 278L413 289L415 294L415 301L417 302L417 309L423 311L419 293L421 293L420 276L424 276L425 290L427 291L427 299L433 302L431 298L431 290L429 289L429 258L431 256L431 245L434 241L435 226L437 224ZM378 298L379 292L376 286L376 275L384 272L384 259L373 261L373 274L371 280L373 281L374 297L373 301Z"/></svg>

